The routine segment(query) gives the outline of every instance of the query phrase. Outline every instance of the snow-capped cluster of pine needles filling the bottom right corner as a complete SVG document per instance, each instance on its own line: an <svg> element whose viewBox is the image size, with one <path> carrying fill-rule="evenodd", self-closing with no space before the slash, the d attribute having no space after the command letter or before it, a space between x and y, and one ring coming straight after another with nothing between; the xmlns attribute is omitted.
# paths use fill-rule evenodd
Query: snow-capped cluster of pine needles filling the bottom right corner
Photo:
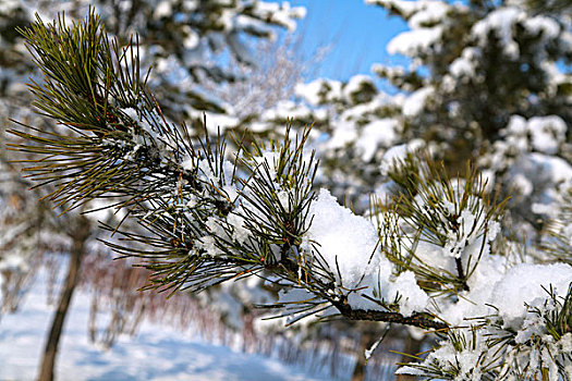
<svg viewBox="0 0 572 381"><path fill-rule="evenodd" d="M570 380L570 266L520 265L488 286L488 314L467 315L417 364L398 370L447 380ZM524 284L523 284L524 283ZM472 300L477 302L476 295Z"/></svg>

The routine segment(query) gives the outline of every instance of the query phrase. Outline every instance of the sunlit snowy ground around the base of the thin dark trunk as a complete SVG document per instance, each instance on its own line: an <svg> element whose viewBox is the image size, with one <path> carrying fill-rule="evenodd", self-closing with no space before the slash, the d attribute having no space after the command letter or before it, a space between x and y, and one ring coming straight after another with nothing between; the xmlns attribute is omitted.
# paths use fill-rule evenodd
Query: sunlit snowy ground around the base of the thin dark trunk
<svg viewBox="0 0 572 381"><path fill-rule="evenodd" d="M0 380L34 380L53 307L46 305L42 275L20 310L0 320ZM65 380L327 380L278 360L206 343L193 332L144 322L135 337L121 336L108 351L89 342L89 297L76 292L60 343L56 376Z"/></svg>

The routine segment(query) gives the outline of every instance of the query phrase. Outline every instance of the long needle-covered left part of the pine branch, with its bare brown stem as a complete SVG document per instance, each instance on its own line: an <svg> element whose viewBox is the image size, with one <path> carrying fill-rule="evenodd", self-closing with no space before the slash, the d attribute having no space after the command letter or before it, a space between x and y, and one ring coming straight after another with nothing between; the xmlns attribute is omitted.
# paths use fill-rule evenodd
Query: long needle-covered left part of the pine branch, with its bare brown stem
<svg viewBox="0 0 572 381"><path fill-rule="evenodd" d="M14 130L29 144L12 149L40 157L26 170L39 186L58 185L49 196L58 206L113 198L139 223L143 233L104 228L126 242L107 242L113 250L153 271L147 287L197 292L269 271L313 294L312 314L327 304L352 320L447 328L382 299L375 300L381 310L348 303L356 290L343 287L338 265L306 238L318 165L304 148L309 128L293 137L288 126L282 142L241 147L231 163L224 136L195 142L166 121L145 88L137 46L109 41L95 13L71 26L63 16L48 25L38 19L23 35L45 74L31 90L61 131Z"/></svg>

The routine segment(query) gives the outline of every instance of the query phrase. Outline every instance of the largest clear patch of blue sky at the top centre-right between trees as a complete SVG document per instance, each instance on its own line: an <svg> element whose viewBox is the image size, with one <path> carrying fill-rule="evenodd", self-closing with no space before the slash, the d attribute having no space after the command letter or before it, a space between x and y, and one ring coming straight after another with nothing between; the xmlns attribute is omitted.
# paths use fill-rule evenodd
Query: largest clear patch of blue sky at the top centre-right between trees
<svg viewBox="0 0 572 381"><path fill-rule="evenodd" d="M303 34L304 52L331 47L311 79L344 81L358 73L370 73L376 62L406 62L404 58L389 56L386 45L407 26L399 17L389 17L380 7L367 5L364 0L291 0L290 3L307 10L306 19L299 22L295 32Z"/></svg>

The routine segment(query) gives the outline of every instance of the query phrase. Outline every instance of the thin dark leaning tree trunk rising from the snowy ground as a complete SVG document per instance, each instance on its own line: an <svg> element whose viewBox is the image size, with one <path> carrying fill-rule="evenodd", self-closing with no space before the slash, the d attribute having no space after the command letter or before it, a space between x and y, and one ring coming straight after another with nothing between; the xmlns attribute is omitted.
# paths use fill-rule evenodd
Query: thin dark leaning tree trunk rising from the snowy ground
<svg viewBox="0 0 572 381"><path fill-rule="evenodd" d="M56 365L56 356L58 354L58 346L60 337L63 331L63 323L65 316L70 308L70 302L73 296L75 286L80 275L80 266L82 265L82 258L84 257L85 243L89 236L89 221L81 217L73 221L77 223L76 229L72 231L72 250L70 253L70 263L68 266L68 276L65 278L65 284L62 287L60 294L60 300L58 309L53 316L51 322L51 329L44 349L44 357L41 359L40 372L38 381L52 381L53 380L53 368Z"/></svg>

